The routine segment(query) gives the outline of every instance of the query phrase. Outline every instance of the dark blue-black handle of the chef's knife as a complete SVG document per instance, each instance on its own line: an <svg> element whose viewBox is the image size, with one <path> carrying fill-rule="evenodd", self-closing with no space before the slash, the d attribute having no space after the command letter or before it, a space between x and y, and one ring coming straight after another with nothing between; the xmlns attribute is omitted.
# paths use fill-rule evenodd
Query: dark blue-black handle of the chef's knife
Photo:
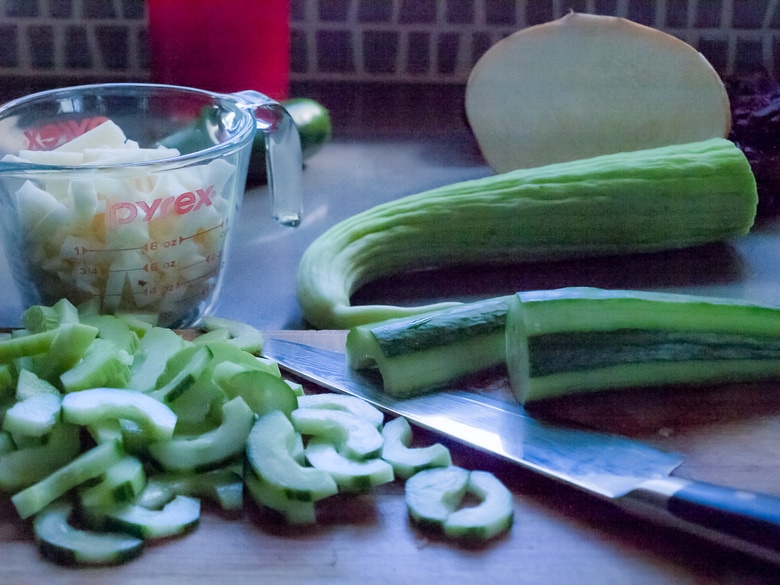
<svg viewBox="0 0 780 585"><path fill-rule="evenodd" d="M780 498L668 477L642 483L618 503L650 519L780 563Z"/></svg>

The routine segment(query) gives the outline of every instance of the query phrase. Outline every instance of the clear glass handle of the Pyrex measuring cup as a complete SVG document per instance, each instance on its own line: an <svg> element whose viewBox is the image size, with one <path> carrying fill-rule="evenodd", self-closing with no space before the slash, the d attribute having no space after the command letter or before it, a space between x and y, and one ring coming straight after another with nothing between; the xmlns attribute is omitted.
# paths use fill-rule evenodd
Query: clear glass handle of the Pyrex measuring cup
<svg viewBox="0 0 780 585"><path fill-rule="evenodd" d="M303 157L298 127L277 101L256 91L237 94L265 135L265 163L271 213L282 225L297 226L303 210Z"/></svg>

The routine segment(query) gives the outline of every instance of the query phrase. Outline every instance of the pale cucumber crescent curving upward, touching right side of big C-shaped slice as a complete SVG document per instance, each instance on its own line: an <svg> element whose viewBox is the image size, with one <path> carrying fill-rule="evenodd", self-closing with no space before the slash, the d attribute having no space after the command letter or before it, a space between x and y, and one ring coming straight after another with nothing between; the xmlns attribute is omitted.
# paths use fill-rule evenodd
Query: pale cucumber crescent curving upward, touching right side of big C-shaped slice
<svg viewBox="0 0 780 585"><path fill-rule="evenodd" d="M306 459L313 467L327 471L344 490L364 492L395 479L393 467L384 459L355 461L339 453L336 445L312 437L306 445Z"/></svg>

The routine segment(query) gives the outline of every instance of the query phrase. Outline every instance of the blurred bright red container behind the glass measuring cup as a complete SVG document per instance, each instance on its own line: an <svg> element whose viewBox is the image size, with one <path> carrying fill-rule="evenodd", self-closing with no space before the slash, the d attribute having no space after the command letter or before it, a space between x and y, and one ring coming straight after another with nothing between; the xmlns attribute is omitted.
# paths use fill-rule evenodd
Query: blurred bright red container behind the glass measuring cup
<svg viewBox="0 0 780 585"><path fill-rule="evenodd" d="M147 0L155 83L287 97L290 0Z"/></svg>

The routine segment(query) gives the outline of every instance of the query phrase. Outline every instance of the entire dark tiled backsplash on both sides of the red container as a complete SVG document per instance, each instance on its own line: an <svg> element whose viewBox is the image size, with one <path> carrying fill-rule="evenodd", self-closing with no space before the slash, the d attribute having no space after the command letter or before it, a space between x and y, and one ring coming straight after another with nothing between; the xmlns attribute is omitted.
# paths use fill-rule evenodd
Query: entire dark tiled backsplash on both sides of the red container
<svg viewBox="0 0 780 585"><path fill-rule="evenodd" d="M780 0L291 0L291 79L464 83L491 44L569 10L671 32L722 74L780 78ZM0 0L5 82L148 77L144 0Z"/></svg>

